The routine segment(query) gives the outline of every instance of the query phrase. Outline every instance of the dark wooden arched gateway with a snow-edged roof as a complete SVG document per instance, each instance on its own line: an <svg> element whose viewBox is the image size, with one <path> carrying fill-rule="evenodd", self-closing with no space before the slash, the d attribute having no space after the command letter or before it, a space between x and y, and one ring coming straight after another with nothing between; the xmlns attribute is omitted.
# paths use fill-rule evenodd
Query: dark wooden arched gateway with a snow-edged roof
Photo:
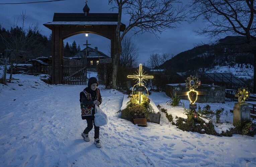
<svg viewBox="0 0 256 167"><path fill-rule="evenodd" d="M116 53L115 30L118 13L55 13L53 22L44 24L52 30L52 83L63 83L63 40L79 33L95 33L111 40L111 58ZM122 24L121 31L125 25Z"/></svg>

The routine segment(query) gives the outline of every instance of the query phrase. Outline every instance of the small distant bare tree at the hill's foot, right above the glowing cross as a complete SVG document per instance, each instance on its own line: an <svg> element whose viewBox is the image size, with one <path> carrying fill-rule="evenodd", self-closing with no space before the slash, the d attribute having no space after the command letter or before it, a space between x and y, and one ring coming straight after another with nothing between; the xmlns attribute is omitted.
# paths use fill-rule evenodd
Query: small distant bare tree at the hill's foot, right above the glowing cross
<svg viewBox="0 0 256 167"><path fill-rule="evenodd" d="M148 67L161 69L160 65L162 65L169 59L170 59L170 54L162 53L160 55L158 53L152 53L148 59Z"/></svg>

